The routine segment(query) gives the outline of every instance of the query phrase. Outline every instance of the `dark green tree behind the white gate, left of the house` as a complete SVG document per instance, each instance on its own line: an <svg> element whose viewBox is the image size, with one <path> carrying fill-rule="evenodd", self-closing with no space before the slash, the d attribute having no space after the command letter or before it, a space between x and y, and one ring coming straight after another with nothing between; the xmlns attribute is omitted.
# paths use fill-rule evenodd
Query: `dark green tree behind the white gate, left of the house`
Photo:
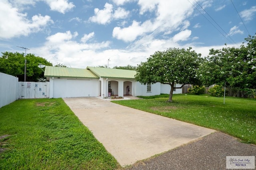
<svg viewBox="0 0 256 170"><path fill-rule="evenodd" d="M26 81L36 82L39 78L44 77L44 72L41 68L38 68L39 63L52 66L52 63L48 62L46 59L31 53L26 55L26 61ZM24 53L11 53L7 51L2 53L2 56L0 56L0 72L16 76L19 78L19 81L24 81L24 70Z"/></svg>

